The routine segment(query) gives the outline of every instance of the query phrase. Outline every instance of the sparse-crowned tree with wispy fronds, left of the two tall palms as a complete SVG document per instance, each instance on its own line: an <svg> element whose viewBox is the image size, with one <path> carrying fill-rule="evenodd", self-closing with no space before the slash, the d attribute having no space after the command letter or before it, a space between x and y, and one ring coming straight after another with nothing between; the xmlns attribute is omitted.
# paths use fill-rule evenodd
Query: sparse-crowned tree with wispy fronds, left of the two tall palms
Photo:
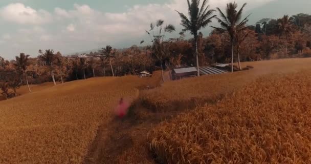
<svg viewBox="0 0 311 164"><path fill-rule="evenodd" d="M167 42L163 42L165 38L165 33L172 33L175 31L175 27L171 24L166 25L163 27L164 20L157 20L156 24L151 23L150 24L150 30L147 31L147 34L151 38L152 47L152 56L156 58L158 61L160 61L161 65L161 75L162 75L162 81L164 82L164 72L163 72L163 63L165 62L165 59L169 56L169 51L167 50ZM157 29L155 29L157 27ZM150 32L152 31L152 36ZM154 33L156 32L156 33ZM144 43L144 40L141 41L141 44Z"/></svg>

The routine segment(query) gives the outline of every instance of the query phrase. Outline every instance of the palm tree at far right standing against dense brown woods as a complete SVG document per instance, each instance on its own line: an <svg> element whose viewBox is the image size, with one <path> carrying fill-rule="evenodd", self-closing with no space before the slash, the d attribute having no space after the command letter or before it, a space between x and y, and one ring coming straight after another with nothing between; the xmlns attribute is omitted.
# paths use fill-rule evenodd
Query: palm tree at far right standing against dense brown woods
<svg viewBox="0 0 311 164"><path fill-rule="evenodd" d="M288 15L284 15L282 18L278 19L278 23L280 36L285 36L285 54L287 55L287 38L293 32L290 17L288 17Z"/></svg>

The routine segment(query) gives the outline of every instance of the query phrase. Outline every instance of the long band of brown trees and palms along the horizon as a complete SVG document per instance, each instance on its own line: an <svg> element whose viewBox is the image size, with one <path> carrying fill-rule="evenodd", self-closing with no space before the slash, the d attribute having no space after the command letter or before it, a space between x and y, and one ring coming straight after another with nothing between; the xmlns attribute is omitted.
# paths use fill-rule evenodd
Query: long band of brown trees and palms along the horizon
<svg viewBox="0 0 311 164"><path fill-rule="evenodd" d="M278 19L262 18L256 25L248 25L248 16L242 17L247 4L229 3L224 11L210 9L208 1L188 2L188 15L181 17L183 30L177 38L166 38L176 32L174 25L164 26L164 20L150 24L146 33L151 45L117 50L106 46L97 52L63 56L53 50L39 50L37 57L20 53L15 60L0 57L1 94L5 98L17 96L16 89L48 81L86 79L96 76L136 75L141 71L173 69L178 67L207 66L213 63L231 63L230 71L241 70L241 61L311 57L311 16L284 15ZM214 13L218 13L218 16ZM218 26L209 24L217 21ZM210 27L208 36L200 30ZM189 31L193 38L185 39ZM237 62L237 67L233 65ZM199 76L199 71L197 73Z"/></svg>

